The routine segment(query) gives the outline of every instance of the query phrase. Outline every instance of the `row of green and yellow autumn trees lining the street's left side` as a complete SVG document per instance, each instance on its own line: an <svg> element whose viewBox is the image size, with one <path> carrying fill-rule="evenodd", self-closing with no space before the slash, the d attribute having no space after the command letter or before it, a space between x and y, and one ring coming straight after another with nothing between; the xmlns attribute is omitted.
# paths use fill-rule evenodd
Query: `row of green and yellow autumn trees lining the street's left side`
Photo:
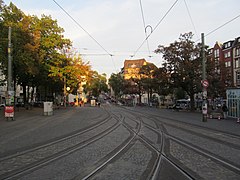
<svg viewBox="0 0 240 180"><path fill-rule="evenodd" d="M91 70L72 50L72 42L64 38L64 29L51 16L41 18L24 14L13 3L0 0L0 64L7 75L8 28L12 28L12 57L14 84L23 87L24 100L28 87L35 87L42 100L61 94L63 85L76 93L78 85L87 81L86 90L97 96L107 89L106 75ZM1 81L1 85L6 83Z"/></svg>

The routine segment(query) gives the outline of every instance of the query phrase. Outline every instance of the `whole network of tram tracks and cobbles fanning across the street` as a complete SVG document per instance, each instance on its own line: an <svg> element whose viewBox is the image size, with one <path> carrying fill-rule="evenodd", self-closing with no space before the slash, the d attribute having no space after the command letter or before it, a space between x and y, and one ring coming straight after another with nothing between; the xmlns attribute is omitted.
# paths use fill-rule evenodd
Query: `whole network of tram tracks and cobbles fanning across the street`
<svg viewBox="0 0 240 180"><path fill-rule="evenodd" d="M117 179L157 180L173 174L180 179L212 179L222 172L228 179L240 176L238 163L201 145L201 142L208 141L213 147L221 147L219 149L239 151L237 136L223 132L218 135L217 131L165 120L146 112L103 108L109 116L79 134L74 132L72 136L34 147L32 151L0 158L0 164L9 161L5 170L7 166L15 166L9 172L1 172L0 167L0 179L29 179L45 174L47 169L53 173L48 178L62 178L58 165L67 166L74 157L79 169L65 179L115 179L119 175ZM230 142L224 143L226 139ZM41 159L25 162L24 166L11 164L14 161L20 164L21 159L31 160L35 154ZM215 172L206 169L215 168L212 165L216 166Z"/></svg>

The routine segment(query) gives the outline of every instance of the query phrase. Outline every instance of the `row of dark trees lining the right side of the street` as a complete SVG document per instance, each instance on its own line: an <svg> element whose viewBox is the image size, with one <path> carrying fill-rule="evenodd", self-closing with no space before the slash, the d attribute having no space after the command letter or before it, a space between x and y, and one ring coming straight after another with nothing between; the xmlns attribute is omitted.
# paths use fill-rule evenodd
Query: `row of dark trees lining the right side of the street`
<svg viewBox="0 0 240 180"><path fill-rule="evenodd" d="M188 96L191 107L194 108L194 95L202 91L202 45L196 44L192 38L191 32L185 33L169 46L159 45L155 53L163 55L165 62L162 67L148 63L142 66L138 78L124 80L121 73L112 74L109 83L115 95L120 97L129 93L139 94L141 97L141 94L148 93L150 100L153 92L163 97L173 94L176 99ZM207 47L205 50L207 51ZM221 81L221 74L214 71L214 62L210 56L207 57L206 66L210 84L208 97L225 97L226 86Z"/></svg>

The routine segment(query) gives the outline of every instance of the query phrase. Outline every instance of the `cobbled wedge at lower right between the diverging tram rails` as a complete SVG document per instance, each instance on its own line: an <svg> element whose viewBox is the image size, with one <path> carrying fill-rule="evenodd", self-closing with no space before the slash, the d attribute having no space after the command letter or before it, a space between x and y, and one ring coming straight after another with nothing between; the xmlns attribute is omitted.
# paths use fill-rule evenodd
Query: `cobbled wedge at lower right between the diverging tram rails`
<svg viewBox="0 0 240 180"><path fill-rule="evenodd" d="M239 167L232 162L171 135L166 139L163 154L194 179L239 179Z"/></svg>

